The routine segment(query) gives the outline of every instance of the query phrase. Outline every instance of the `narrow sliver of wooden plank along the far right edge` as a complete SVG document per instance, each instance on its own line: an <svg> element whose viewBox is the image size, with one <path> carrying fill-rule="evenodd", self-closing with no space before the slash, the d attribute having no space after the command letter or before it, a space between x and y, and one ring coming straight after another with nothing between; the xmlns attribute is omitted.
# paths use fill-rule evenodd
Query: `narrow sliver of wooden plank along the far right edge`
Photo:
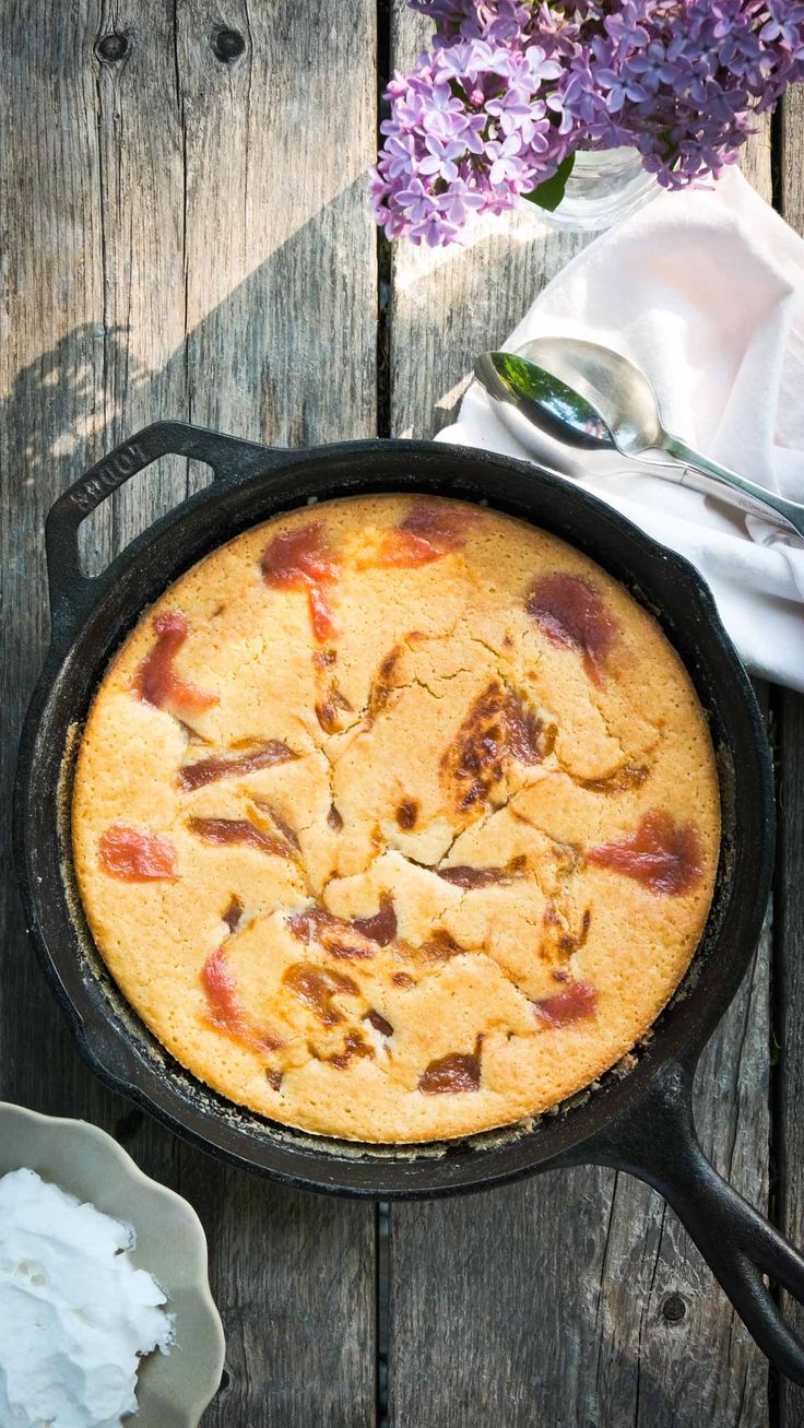
<svg viewBox="0 0 804 1428"><path fill-rule="evenodd" d="M804 91L788 90L778 124L778 191L781 214L804 236ZM778 1061L774 1074L775 1217L790 1240L804 1245L804 697L777 691L778 837L774 1035ZM785 1312L804 1337L804 1309L783 1295ZM780 1381L781 1428L804 1421L804 1389Z"/></svg>

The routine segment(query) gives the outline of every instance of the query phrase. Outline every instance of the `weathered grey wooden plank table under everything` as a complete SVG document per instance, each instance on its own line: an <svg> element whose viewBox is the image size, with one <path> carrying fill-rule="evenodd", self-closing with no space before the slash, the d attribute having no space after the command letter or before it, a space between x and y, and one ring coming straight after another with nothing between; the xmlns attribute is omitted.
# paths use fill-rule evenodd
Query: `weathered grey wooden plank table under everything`
<svg viewBox="0 0 804 1428"><path fill-rule="evenodd" d="M514 218L467 251L377 241L377 91L423 37L403 0L4 0L0 34L7 810L47 638L43 517L87 464L160 416L280 444L430 436L580 240ZM804 93L745 166L804 230ZM87 533L90 567L204 478L177 460L140 476ZM767 703L773 932L704 1057L697 1118L718 1168L804 1242L804 700ZM804 1422L644 1185L578 1170L384 1220L226 1170L79 1061L7 853L3 898L0 1095L99 1122L197 1207L228 1338L208 1428Z"/></svg>

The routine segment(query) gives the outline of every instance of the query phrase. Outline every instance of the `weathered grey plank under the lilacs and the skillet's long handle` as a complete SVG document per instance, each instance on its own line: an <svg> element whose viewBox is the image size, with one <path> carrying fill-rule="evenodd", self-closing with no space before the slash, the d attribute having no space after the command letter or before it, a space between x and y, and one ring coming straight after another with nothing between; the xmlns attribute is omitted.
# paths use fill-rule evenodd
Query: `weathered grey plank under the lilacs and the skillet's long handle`
<svg viewBox="0 0 804 1428"><path fill-rule="evenodd" d="M393 10L393 64L426 27ZM770 194L767 130L748 170ZM581 247L516 216L468 250L394 250L391 431L453 420L474 356ZM701 1062L697 1121L718 1168L767 1204L768 938ZM625 1175L546 1174L394 1205L391 1428L761 1428L767 1365L664 1202Z"/></svg>

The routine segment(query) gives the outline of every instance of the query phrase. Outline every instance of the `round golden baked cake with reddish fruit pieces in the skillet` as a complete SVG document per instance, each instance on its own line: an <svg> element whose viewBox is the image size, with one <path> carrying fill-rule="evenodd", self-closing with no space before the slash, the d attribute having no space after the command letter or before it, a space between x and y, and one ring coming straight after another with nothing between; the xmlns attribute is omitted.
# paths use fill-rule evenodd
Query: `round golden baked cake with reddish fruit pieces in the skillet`
<svg viewBox="0 0 804 1428"><path fill-rule="evenodd" d="M544 1111L677 987L720 841L655 621L563 541L371 496L214 551L107 671L76 771L93 937L164 1047L308 1131Z"/></svg>

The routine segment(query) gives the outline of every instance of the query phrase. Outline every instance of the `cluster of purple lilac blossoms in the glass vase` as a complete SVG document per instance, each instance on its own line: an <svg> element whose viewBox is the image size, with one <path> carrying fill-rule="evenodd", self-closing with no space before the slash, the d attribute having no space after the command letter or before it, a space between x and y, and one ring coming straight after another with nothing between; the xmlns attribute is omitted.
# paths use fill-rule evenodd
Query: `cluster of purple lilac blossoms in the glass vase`
<svg viewBox="0 0 804 1428"><path fill-rule="evenodd" d="M633 146L667 188L717 177L754 116L804 79L804 0L410 4L436 34L388 84L370 187L377 223L413 243L538 203L578 149Z"/></svg>

